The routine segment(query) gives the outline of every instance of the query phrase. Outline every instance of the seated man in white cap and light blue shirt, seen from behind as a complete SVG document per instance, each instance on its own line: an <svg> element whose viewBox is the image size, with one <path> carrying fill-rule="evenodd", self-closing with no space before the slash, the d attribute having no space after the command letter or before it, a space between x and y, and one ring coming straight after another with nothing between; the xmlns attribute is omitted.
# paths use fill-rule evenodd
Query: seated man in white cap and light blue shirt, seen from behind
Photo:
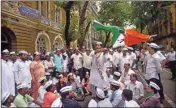
<svg viewBox="0 0 176 108"><path fill-rule="evenodd" d="M110 97L110 102L112 103L113 107L122 107L124 105L122 101L122 90L120 89L120 82L119 81L111 81L111 90L113 91Z"/></svg>

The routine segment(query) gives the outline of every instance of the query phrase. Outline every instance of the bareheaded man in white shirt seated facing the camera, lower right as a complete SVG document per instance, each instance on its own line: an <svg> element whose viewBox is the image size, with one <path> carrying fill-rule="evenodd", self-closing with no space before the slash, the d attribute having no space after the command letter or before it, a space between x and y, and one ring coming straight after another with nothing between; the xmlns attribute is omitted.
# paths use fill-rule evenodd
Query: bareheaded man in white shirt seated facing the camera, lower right
<svg viewBox="0 0 176 108"><path fill-rule="evenodd" d="M137 81L136 74L130 75L130 83L127 84L126 88L133 92L133 100L141 104L141 99L144 96L144 86L141 82Z"/></svg>

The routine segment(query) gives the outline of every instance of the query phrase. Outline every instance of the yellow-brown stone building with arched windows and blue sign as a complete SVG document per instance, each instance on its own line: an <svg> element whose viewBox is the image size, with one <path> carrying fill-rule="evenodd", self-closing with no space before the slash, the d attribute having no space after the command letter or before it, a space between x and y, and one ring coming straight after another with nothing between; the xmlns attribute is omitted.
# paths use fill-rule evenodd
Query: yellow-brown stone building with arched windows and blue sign
<svg viewBox="0 0 176 108"><path fill-rule="evenodd" d="M54 1L2 1L1 50L51 51L64 47L64 9Z"/></svg>

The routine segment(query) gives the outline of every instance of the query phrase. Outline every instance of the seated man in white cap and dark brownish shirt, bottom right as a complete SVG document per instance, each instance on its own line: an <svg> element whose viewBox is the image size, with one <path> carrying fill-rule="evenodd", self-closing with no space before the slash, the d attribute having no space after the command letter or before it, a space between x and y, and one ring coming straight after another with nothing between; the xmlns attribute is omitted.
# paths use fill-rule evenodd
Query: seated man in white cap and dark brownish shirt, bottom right
<svg viewBox="0 0 176 108"><path fill-rule="evenodd" d="M149 86L147 87L149 96L140 104L140 108L159 108L160 96L158 90L160 90L160 87L155 82L150 81Z"/></svg>

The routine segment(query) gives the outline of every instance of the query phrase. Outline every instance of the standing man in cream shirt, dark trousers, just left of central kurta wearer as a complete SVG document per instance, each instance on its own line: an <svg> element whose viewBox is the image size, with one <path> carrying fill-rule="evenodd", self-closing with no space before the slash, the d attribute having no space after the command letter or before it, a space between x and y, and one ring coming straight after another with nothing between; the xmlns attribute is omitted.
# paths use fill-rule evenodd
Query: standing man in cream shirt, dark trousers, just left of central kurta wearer
<svg viewBox="0 0 176 108"><path fill-rule="evenodd" d="M92 64L92 57L90 56L90 50L87 48L86 53L81 53L83 57L83 77L85 77L86 72L90 74L90 68Z"/></svg>

